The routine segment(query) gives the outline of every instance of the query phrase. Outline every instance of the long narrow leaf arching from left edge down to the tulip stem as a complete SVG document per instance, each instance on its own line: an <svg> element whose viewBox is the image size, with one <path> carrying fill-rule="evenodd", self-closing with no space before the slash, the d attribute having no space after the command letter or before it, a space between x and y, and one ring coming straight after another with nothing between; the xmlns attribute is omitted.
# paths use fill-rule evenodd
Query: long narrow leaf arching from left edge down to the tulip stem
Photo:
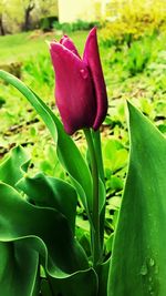
<svg viewBox="0 0 166 296"><path fill-rule="evenodd" d="M0 70L0 78L18 89L42 118L56 143L58 155L61 163L71 175L87 214L91 213L92 177L86 162L82 157L74 141L64 132L63 125L55 114L23 82L3 70Z"/></svg>

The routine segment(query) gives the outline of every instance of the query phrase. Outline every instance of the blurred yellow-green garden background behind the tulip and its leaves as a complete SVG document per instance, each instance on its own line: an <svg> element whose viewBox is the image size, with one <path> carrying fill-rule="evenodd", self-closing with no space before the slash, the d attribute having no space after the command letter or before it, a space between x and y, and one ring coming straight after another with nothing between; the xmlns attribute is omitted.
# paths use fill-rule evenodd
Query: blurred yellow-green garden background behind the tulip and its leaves
<svg viewBox="0 0 166 296"><path fill-rule="evenodd" d="M108 113L101 131L107 192L106 227L110 234L114 229L127 170L125 101L137 105L166 134L166 9L164 0L96 0L90 1L90 12L93 13L84 13L79 2L75 14L70 14L62 1L2 0L0 69L20 78L58 112L54 73L45 41L60 40L65 33L82 53L89 30L97 25L108 93ZM68 4L72 6L72 0ZM84 153L82 132L76 132L73 139ZM39 116L17 90L0 81L0 162L18 144L31 154L32 173L40 170L68 178ZM77 225L87 229L81 210ZM111 244L112 238L107 243L108 251Z"/></svg>

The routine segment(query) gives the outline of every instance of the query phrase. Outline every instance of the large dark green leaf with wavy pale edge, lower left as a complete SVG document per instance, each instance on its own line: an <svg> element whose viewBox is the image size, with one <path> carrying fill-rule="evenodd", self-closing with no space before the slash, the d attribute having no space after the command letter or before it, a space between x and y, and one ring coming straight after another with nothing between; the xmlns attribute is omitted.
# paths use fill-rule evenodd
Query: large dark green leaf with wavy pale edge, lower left
<svg viewBox="0 0 166 296"><path fill-rule="evenodd" d="M68 220L58 211L29 204L4 183L0 183L0 242L25 238L50 275L66 277L89 268Z"/></svg>

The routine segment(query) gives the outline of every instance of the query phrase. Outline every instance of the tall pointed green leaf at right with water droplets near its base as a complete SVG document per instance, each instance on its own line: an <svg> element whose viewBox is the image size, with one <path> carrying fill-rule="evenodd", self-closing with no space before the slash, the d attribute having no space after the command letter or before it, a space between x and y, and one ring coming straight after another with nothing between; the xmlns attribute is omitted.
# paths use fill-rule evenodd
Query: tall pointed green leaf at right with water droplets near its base
<svg viewBox="0 0 166 296"><path fill-rule="evenodd" d="M166 295L166 139L132 104L131 157L107 296Z"/></svg>

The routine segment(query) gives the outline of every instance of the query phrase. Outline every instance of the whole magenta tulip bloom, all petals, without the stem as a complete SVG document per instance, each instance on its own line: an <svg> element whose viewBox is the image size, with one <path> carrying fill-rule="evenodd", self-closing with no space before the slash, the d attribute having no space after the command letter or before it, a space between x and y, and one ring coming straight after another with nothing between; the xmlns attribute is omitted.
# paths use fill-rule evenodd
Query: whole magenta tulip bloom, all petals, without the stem
<svg viewBox="0 0 166 296"><path fill-rule="evenodd" d="M68 134L84 127L96 131L107 112L106 88L98 54L96 28L87 37L83 59L64 35L50 43L55 71L55 99Z"/></svg>

